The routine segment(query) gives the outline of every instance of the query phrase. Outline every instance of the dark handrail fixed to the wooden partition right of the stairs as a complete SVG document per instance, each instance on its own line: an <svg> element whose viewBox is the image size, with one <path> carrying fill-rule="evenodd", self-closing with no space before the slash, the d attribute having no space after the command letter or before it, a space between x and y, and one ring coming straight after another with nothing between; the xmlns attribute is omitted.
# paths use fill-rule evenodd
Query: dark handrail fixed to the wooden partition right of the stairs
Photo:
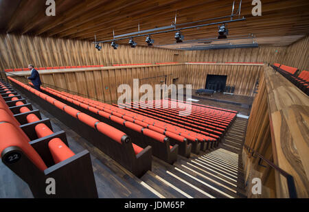
<svg viewBox="0 0 309 212"><path fill-rule="evenodd" d="M285 172L283 169L281 169L280 167L278 167L277 165L275 165L275 163L269 161L268 159L264 158L264 156L262 156L262 154L256 152L255 150L253 150L252 148L249 148L249 146L244 144L244 147L248 150L248 153L252 153L258 155L259 158L261 158L263 161L265 161L268 165L270 165L271 167L273 167L277 172L279 172L280 174L282 174L282 176L284 176L286 178L286 181L288 182L288 195L290 196L290 198L297 198L297 193L296 193L296 187L295 187L295 182L294 182L294 178L292 175L288 174L287 172ZM251 151L251 152L250 152Z"/></svg>

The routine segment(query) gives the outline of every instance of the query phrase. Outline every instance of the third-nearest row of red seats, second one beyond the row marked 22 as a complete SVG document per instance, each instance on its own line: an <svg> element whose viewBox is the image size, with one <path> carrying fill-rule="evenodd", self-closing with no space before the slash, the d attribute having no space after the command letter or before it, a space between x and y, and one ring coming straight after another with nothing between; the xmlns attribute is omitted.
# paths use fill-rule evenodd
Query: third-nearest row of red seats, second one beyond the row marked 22
<svg viewBox="0 0 309 212"><path fill-rule="evenodd" d="M99 115L100 117L105 119L104 122L110 120L110 123L117 128L119 128L120 126L124 126L122 130L126 132L132 132L130 130L139 132L139 136L137 135L137 137L135 137L135 142L137 142L139 145L143 144L144 146L152 146L152 154L154 154L158 158L163 159L165 162L174 163L174 161L176 161L178 145L175 145L173 148L173 146L170 145L170 139L166 135L155 132L154 130L151 130L149 128L144 128L144 126L140 126L137 123L133 122L134 120L130 117L127 117L126 115L117 115L116 113L113 114L111 110L99 110L98 108L89 106L89 102L87 101L83 100L82 102L80 102L80 99L77 99L75 97L74 99L71 98L73 97L73 95L65 95L64 93L60 93L59 91L49 88L45 89L41 87L41 89L49 94L59 97L60 99L64 99L71 104L79 106L81 110L83 108L85 110L89 110L91 113L94 113L94 115ZM115 123L117 123L118 125ZM127 130L127 128L130 130ZM130 137L133 137L133 134L129 135ZM150 141L150 139L152 139L152 141ZM184 138L182 138L181 141L183 141L183 139ZM141 142L142 140L144 141ZM155 141L155 143L153 141ZM154 143L154 145L152 145L152 143ZM170 154L173 155L172 158L169 156Z"/></svg>

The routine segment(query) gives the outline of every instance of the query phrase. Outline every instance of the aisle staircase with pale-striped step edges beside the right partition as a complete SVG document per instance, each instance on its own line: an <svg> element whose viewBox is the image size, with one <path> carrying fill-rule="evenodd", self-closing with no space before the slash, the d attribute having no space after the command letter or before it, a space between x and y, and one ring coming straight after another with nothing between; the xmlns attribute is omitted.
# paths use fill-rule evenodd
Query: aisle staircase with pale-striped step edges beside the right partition
<svg viewBox="0 0 309 212"><path fill-rule="evenodd" d="M246 198L241 148L247 119L237 118L217 150L178 157L174 165L153 158L141 180L159 198Z"/></svg>

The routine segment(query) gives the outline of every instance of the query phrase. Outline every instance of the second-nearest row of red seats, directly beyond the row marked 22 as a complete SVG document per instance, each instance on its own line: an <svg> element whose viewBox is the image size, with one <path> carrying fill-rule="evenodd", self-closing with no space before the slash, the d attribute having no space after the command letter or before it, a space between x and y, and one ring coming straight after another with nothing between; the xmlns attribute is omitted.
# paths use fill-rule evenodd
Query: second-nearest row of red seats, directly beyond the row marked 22
<svg viewBox="0 0 309 212"><path fill-rule="evenodd" d="M78 123L75 121L75 126L78 126L81 130L86 129L84 130L82 137L91 141L93 145L97 146L100 150L102 150L102 152L108 154L108 156L111 156L111 158L113 158L119 164L123 165L136 176L141 177L148 170L151 170L152 149L150 146L141 148L139 145L132 143L130 137L128 137L128 135L126 135L121 130L117 130L116 128L109 126L108 124L99 121L98 119L82 113L80 110L76 110L75 108L62 103L57 99L46 95L45 93L36 91L35 89L32 89L30 86L27 86L22 82L14 80L13 78L9 79L21 86L21 88L30 91L32 95L36 95L40 99L43 99L43 101L49 102L49 104L56 106L58 110L62 111L61 113L65 113L70 117L70 119L77 119ZM54 110L54 108L52 110ZM64 116L59 115L60 113L57 112L57 110L54 110L54 112L55 113L53 115L56 115L56 117L58 117L61 121L66 121L65 119L67 118L62 119ZM70 124L73 122L74 121L71 120ZM87 126L87 128L84 128L81 123L84 126ZM88 129L94 130L95 134L99 134L97 137L100 137L100 139L92 136L89 137ZM108 139L104 139L105 137ZM133 154L135 153L134 156L131 155L131 152Z"/></svg>

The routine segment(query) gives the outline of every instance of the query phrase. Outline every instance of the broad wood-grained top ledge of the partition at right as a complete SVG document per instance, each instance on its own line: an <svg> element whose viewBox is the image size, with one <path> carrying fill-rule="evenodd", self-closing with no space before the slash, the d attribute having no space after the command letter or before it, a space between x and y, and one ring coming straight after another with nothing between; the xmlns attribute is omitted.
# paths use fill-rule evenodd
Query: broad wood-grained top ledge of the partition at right
<svg viewBox="0 0 309 212"><path fill-rule="evenodd" d="M271 67L264 70L275 164L292 175L298 198L309 197L309 98ZM286 178L275 172L279 198L286 197Z"/></svg>

